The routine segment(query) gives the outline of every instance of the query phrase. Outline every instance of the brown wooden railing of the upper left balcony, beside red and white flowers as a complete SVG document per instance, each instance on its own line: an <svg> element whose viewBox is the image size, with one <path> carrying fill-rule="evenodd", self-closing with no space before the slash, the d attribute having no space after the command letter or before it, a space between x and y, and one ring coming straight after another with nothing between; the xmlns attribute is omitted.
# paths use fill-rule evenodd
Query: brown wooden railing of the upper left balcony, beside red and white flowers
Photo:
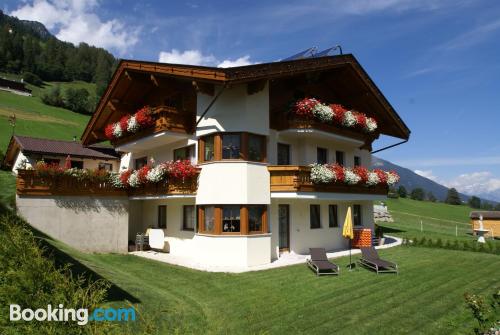
<svg viewBox="0 0 500 335"><path fill-rule="evenodd" d="M162 131L181 134L192 134L194 132L195 116L188 111L179 111L177 108L169 106L158 106L153 108L152 117L155 120L152 127L135 134L125 135L111 141L111 143L114 146L119 146Z"/></svg>

